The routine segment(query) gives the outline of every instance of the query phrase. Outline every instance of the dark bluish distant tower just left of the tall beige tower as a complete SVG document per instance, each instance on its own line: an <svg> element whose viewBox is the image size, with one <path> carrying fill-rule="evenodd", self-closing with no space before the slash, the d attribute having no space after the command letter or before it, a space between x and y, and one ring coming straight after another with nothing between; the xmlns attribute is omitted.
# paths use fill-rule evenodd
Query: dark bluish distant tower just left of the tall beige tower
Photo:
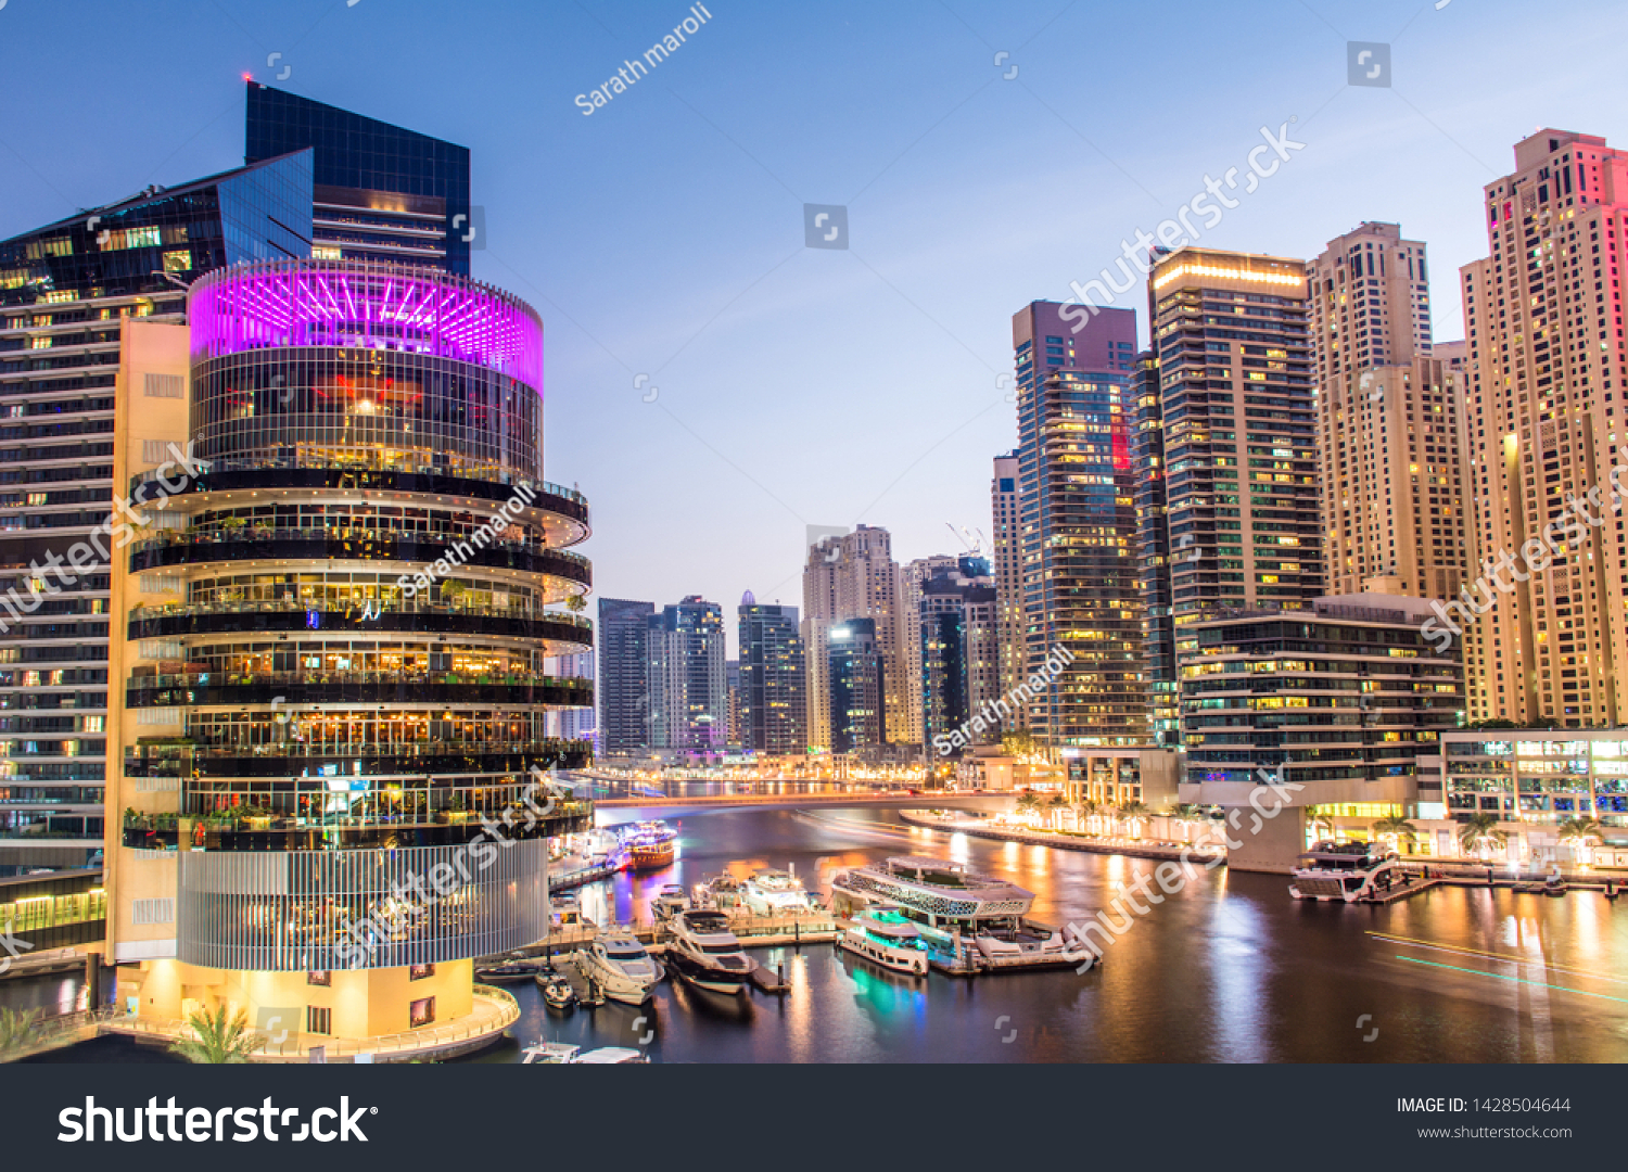
<svg viewBox="0 0 1628 1172"><path fill-rule="evenodd" d="M736 612L741 641L741 747L773 757L807 752L807 664L798 609L747 591Z"/></svg>

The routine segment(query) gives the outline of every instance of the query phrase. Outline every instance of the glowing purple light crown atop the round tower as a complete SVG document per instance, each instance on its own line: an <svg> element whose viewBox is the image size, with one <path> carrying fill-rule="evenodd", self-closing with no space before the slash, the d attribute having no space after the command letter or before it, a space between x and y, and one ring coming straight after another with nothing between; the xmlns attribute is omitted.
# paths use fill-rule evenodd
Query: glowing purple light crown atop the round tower
<svg viewBox="0 0 1628 1172"><path fill-rule="evenodd" d="M353 260L257 260L187 295L192 361L270 347L436 355L542 392L542 319L500 288L451 273Z"/></svg>

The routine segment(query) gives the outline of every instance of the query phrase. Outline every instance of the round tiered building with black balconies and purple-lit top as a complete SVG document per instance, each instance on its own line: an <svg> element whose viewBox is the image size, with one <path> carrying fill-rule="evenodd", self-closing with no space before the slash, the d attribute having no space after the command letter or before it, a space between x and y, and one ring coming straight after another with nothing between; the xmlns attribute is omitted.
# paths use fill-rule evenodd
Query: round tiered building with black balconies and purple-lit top
<svg viewBox="0 0 1628 1172"><path fill-rule="evenodd" d="M588 762L545 718L593 703L542 669L591 645L549 609L591 570L586 500L542 480L540 319L422 269L234 265L187 326L129 324L119 379L117 1004L275 1017L296 1053L500 1035L472 959L545 934L545 835L591 822L532 780ZM125 392L166 379L190 394ZM145 469L176 435L194 457Z"/></svg>

